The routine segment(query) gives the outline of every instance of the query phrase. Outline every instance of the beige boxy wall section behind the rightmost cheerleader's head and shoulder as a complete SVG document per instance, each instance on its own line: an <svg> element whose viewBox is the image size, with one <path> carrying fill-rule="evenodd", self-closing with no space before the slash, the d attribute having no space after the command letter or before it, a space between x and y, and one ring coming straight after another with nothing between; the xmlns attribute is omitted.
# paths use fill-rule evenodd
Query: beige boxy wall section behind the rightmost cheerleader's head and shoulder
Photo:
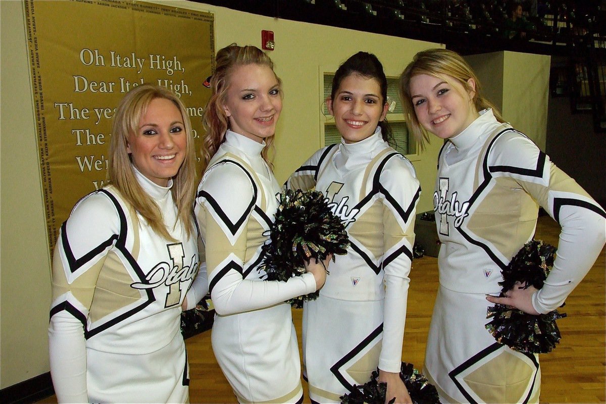
<svg viewBox="0 0 606 404"><path fill-rule="evenodd" d="M545 151L551 56L511 51L465 56L505 121Z"/></svg>

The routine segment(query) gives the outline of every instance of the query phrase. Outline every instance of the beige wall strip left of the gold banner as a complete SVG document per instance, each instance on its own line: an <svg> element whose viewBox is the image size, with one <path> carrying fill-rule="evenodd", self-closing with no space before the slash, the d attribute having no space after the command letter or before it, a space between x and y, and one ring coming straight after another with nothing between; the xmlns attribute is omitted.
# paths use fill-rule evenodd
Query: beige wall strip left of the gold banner
<svg viewBox="0 0 606 404"><path fill-rule="evenodd" d="M0 1L0 388L48 371L50 257L22 7Z"/></svg>

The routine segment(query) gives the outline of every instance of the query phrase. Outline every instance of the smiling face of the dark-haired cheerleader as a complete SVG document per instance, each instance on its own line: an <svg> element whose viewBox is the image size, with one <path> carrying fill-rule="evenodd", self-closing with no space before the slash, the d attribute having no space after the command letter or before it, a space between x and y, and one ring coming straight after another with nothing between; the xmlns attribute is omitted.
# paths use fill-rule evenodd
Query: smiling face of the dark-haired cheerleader
<svg viewBox="0 0 606 404"><path fill-rule="evenodd" d="M356 73L341 81L335 98L327 99L326 104L345 143L359 142L375 133L388 107L379 82Z"/></svg>

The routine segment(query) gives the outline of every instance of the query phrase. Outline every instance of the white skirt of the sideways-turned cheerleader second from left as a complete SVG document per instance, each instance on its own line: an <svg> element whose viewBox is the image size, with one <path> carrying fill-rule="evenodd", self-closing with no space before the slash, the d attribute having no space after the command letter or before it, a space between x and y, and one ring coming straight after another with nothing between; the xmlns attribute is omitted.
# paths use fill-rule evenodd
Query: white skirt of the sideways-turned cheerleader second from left
<svg viewBox="0 0 606 404"><path fill-rule="evenodd" d="M215 316L211 340L240 403L296 403L303 397L290 304Z"/></svg>

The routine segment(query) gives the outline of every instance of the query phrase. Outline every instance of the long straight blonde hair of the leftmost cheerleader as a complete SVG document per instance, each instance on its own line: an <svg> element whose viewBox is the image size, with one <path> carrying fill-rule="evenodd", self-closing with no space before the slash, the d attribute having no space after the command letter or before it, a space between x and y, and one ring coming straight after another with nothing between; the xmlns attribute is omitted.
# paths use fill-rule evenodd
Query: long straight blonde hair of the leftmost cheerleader
<svg viewBox="0 0 606 404"><path fill-rule="evenodd" d="M173 201L177 206L178 220L187 231L190 237L194 233L194 223L191 209L196 191L196 155L191 134L191 123L179 97L168 90L168 88L159 85L142 84L122 98L113 120L112 139L110 141L109 151L109 170L108 179L120 193L128 204L144 217L147 224L159 235L167 240L176 241L170 236L167 226L162 217L162 212L148 194L139 185L135 177L135 171L131 162L131 156L127 151L128 136L138 131L139 121L145 114L151 101L156 98L167 99L173 102L181 112L181 118L185 126L186 146L185 158L179 168L178 173L173 177L173 187L171 194ZM176 223L173 225L176 226Z"/></svg>

